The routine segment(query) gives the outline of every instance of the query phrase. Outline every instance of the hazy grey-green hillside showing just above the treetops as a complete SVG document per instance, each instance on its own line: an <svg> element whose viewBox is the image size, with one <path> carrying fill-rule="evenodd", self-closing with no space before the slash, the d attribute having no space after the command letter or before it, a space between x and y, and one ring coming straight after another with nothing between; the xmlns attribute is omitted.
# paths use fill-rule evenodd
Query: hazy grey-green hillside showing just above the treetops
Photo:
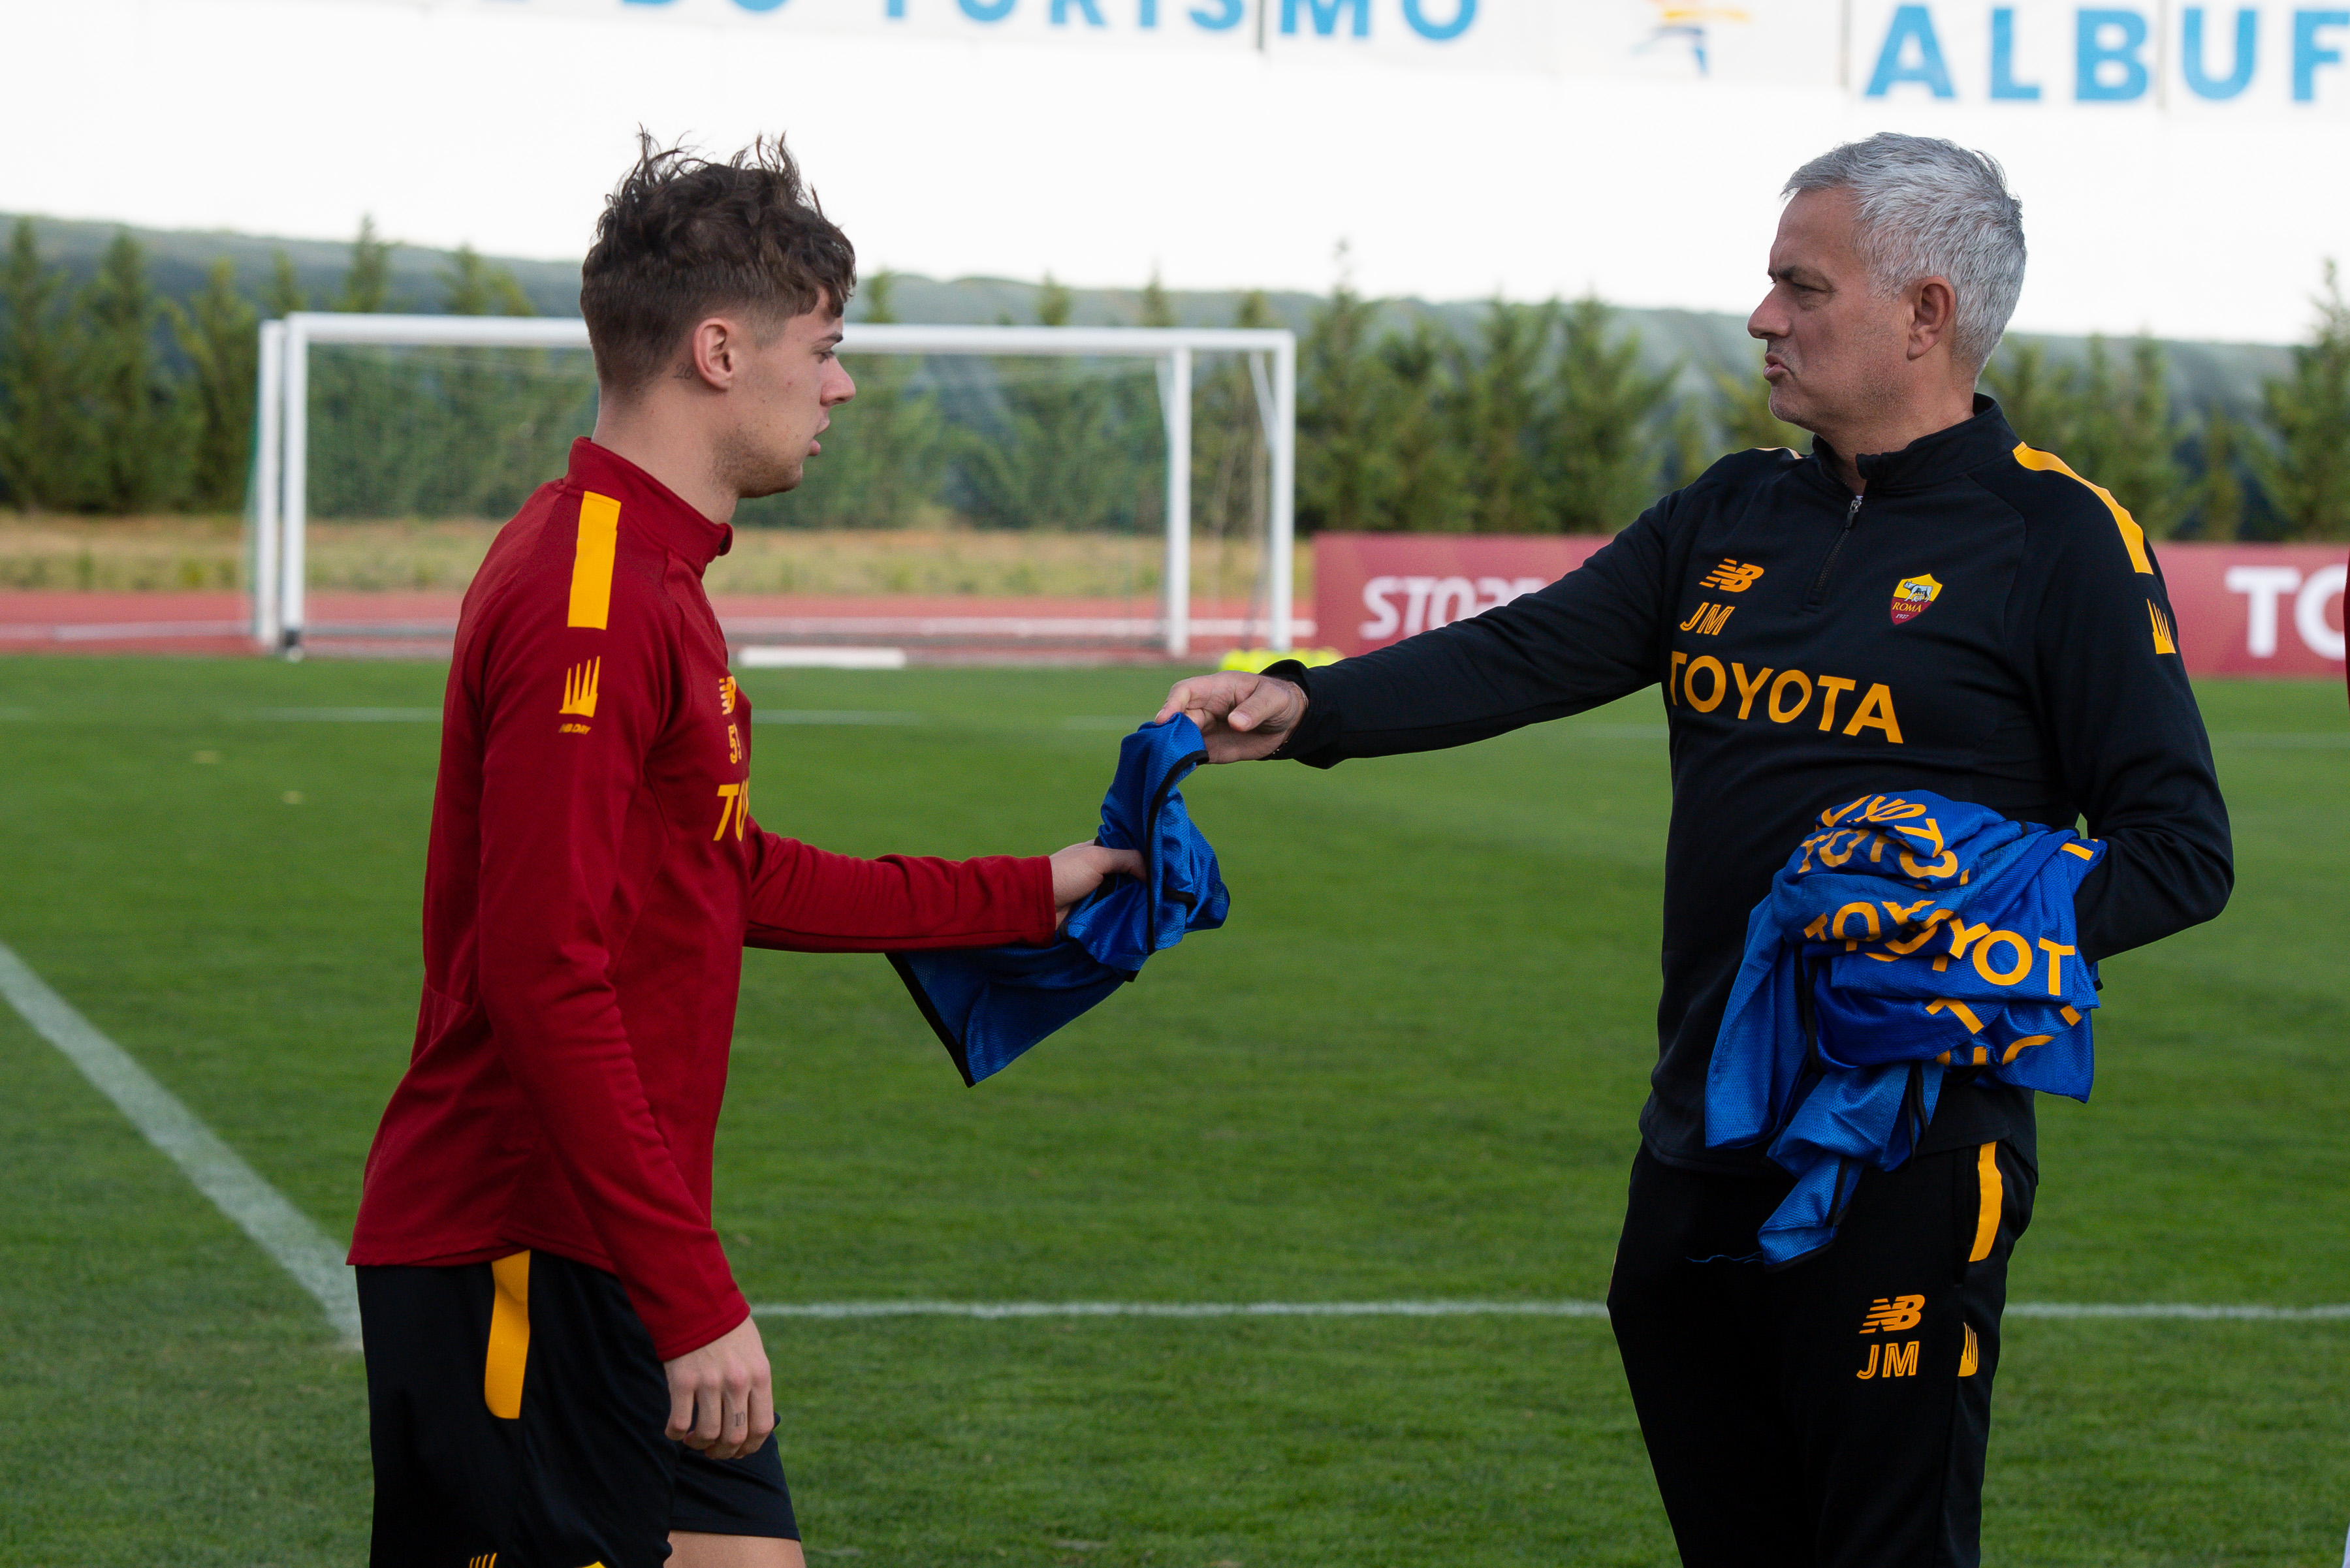
<svg viewBox="0 0 2350 1568"><path fill-rule="evenodd" d="M0 214L0 223L14 226L14 216ZM87 277L106 244L122 230L118 223L68 223L61 219L33 219L40 249L49 261L63 263L75 277ZM129 230L148 252L155 287L183 299L202 287L204 270L228 256L237 263L237 282L249 294L258 294L263 280L275 268L275 254L284 252L294 263L294 275L303 292L324 308L341 287L350 266L350 244L327 240L270 240L237 233L200 230ZM578 263L573 261L519 261L494 256L496 266L515 275L522 294L538 315L578 315ZM442 308L451 252L402 244L392 252L390 301L392 310ZM1034 322L1034 282L1006 277L956 277L933 280L900 275L895 292L898 317L907 322ZM1074 289L1074 320L1079 324L1130 324L1142 315L1140 289ZM1170 292L1168 303L1187 327L1224 327L1241 303L1236 292ZM1274 320L1295 331L1304 331L1314 310L1323 306L1318 294L1269 294ZM1471 336L1483 301L1429 303L1417 299L1389 301L1396 320L1429 315L1459 336ZM862 313L862 301L851 303L851 320ZM1708 371L1727 369L1748 374L1758 364L1758 348L1746 336L1746 322L1737 315L1708 310L1622 310L1622 324L1640 334L1643 360L1652 367L1687 367L1692 390L1704 386ZM2087 357L2087 339L2044 336L2016 341L2042 343L2052 362L2070 364ZM2237 414L2251 414L2261 402L2261 381L2282 376L2291 364L2284 348L2265 343L2195 343L2167 341L2171 397L2186 404L2225 402Z"/></svg>

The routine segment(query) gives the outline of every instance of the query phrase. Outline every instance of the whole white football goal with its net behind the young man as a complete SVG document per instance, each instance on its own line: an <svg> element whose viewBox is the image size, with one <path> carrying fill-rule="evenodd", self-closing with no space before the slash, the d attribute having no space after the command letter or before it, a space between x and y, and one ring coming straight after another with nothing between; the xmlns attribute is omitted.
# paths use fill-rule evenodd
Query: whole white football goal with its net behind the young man
<svg viewBox="0 0 2350 1568"><path fill-rule="evenodd" d="M585 324L301 313L261 329L254 637L364 635L329 590L461 590L595 425ZM851 324L858 395L707 585L736 644L938 656L1288 649L1295 339Z"/></svg>

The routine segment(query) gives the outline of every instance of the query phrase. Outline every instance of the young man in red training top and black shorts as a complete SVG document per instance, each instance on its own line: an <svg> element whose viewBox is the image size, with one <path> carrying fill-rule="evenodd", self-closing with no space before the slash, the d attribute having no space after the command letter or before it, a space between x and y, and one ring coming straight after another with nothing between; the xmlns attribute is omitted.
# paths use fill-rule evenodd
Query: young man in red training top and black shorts
<svg viewBox="0 0 2350 1568"><path fill-rule="evenodd" d="M1050 940L1130 851L853 860L761 832L703 569L855 386L855 252L780 141L651 143L580 277L602 409L465 592L416 1053L367 1159L374 1568L799 1568L710 1227L743 947Z"/></svg>

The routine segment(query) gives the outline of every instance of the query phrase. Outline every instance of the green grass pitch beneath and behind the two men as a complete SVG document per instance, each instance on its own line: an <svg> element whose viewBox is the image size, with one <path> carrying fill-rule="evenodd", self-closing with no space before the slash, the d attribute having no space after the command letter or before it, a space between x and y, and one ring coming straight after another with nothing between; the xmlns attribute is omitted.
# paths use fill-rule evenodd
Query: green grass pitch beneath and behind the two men
<svg viewBox="0 0 2350 1568"><path fill-rule="evenodd" d="M331 1234L409 1048L430 665L0 661L0 940ZM752 675L768 827L1086 837L1142 670ZM2350 722L2211 684L2235 905L2115 959L2019 1300L2350 1300ZM1074 724L1069 719L1076 719ZM298 804L291 804L298 797ZM1231 924L966 1091L870 957L750 954L717 1218L754 1300L1598 1298L1654 1056L1654 701L1187 790ZM0 1011L0 1563L357 1563L308 1302ZM1668 1563L1579 1319L766 1321L813 1563ZM1990 1563L2334 1563L2350 1324L2014 1321Z"/></svg>

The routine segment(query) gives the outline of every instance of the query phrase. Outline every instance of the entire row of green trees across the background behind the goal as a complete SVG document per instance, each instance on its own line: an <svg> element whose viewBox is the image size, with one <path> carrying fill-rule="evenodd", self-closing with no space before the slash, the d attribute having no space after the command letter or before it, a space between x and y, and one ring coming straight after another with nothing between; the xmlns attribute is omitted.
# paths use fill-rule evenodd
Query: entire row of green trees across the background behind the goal
<svg viewBox="0 0 2350 1568"><path fill-rule="evenodd" d="M392 247L367 223L334 310L378 310ZM515 277L470 249L442 273L454 315L529 315ZM73 284L19 221L0 266L0 501L56 512L242 505L256 324L313 308L277 254L256 296L214 263L162 299L134 237ZM1065 324L1046 280L1036 320ZM862 315L895 320L893 282ZM1140 324L1173 324L1152 282ZM1264 327L1262 294L1236 324ZM562 465L595 418L583 353L338 348L313 357L310 505L320 517L496 517ZM822 482L743 522L1159 529L1166 447L1149 367L1076 360L858 364ZM2350 536L2350 306L2326 268L2310 341L2256 409L2174 409L2162 346L2089 341L2082 364L2012 343L1986 374L2023 440L2115 491L2150 534ZM1694 390L1692 390L1694 388ZM1570 531L1622 527L1718 454L1807 437L1772 418L1758 376L1657 369L1614 313L1492 301L1462 336L1340 282L1300 350L1297 522L1314 529ZM1264 520L1264 433L1246 360L1201 362L1196 527L1229 541Z"/></svg>

